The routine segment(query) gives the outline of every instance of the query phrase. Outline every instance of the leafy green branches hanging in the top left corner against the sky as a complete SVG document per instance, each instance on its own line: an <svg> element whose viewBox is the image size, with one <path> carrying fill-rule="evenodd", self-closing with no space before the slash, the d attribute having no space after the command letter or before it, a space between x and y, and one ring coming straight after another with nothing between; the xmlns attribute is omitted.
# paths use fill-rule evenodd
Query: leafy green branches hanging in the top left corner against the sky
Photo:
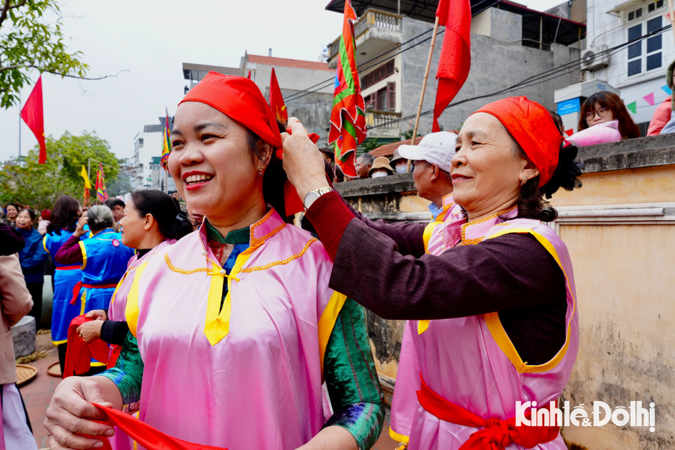
<svg viewBox="0 0 675 450"><path fill-rule="evenodd" d="M54 0L0 0L0 108L18 105L33 69L84 78L89 66L68 52L62 26Z"/></svg>

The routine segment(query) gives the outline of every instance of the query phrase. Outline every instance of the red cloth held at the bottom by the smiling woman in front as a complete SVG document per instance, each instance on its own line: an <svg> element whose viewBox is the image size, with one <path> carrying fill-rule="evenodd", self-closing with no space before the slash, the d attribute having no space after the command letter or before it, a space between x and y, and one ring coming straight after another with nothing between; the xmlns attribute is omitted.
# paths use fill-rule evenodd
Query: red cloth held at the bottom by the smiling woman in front
<svg viewBox="0 0 675 450"><path fill-rule="evenodd" d="M155 428L152 428L150 425L141 422L141 420L127 413L106 406L93 405L105 415L103 420L97 420L97 422L119 427L120 430L127 433L131 439L134 439L134 441L138 442L148 450L227 450L222 447L193 444L192 442L176 439L175 437L165 435L159 430L155 430ZM112 450L107 437L95 437L94 439L101 439L103 442L103 450Z"/></svg>

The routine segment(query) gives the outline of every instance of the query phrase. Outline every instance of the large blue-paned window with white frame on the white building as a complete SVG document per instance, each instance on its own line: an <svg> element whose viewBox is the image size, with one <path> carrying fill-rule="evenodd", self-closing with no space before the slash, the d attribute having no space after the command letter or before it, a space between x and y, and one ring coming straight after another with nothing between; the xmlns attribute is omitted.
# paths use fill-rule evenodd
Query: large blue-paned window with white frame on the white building
<svg viewBox="0 0 675 450"><path fill-rule="evenodd" d="M632 41L643 36L643 25L645 33L649 34L662 28L661 16L647 20L629 27L628 40ZM662 53L662 35L648 37L628 46L628 76L632 77L643 72L658 69L663 65Z"/></svg>

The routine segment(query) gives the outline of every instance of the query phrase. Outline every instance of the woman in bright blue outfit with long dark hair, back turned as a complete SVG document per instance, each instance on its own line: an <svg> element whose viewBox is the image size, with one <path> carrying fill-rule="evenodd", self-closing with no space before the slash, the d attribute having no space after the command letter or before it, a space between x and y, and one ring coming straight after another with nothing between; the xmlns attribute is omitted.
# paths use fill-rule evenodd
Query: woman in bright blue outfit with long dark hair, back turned
<svg viewBox="0 0 675 450"><path fill-rule="evenodd" d="M82 207L70 195L58 198L51 209L51 224L44 236L44 250L54 259L56 253L75 231L77 221L82 217ZM51 304L51 342L58 348L58 364L63 373L65 352L67 349L68 326L79 314L75 304L71 304L72 289L82 281L82 267L77 264L59 264L54 261L54 297Z"/></svg>

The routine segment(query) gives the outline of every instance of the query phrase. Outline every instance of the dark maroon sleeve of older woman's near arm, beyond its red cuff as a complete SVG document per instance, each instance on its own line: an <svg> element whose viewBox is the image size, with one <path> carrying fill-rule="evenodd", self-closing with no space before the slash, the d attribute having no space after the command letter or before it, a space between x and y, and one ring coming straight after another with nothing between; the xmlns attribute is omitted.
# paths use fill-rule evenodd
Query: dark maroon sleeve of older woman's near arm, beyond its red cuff
<svg viewBox="0 0 675 450"><path fill-rule="evenodd" d="M528 234L507 234L420 258L352 220L330 288L383 319L451 319L544 304L565 295L563 271Z"/></svg>

